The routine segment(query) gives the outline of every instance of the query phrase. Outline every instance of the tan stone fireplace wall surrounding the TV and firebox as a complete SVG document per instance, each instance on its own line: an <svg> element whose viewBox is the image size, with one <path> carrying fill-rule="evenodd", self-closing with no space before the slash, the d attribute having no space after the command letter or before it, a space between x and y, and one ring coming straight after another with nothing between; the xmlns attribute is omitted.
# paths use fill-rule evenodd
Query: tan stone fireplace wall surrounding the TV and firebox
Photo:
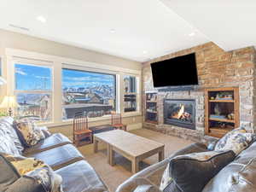
<svg viewBox="0 0 256 192"><path fill-rule="evenodd" d="M150 63L163 61L180 55L187 55L189 53L195 53L196 55L199 85L196 86L194 90L183 91L158 91L154 89ZM240 124L246 128L247 131L256 131L256 100L254 99L256 96L255 65L256 51L253 47L226 52L224 49L219 48L218 45L213 43L201 44L190 49L180 50L176 53L144 62L143 100L145 101L146 99L145 94L147 91L154 90L157 92L158 122L157 124L150 124L143 121L143 127L154 131L160 131L166 135L201 142L205 139L204 90L206 88L239 87ZM170 72L170 75L172 75L172 73L175 72ZM192 115L192 122L194 122L194 125L193 123L191 123L191 126L188 125L189 121L191 122L191 119L184 119L184 117L190 117L190 115L182 113L183 110L187 110L188 112L188 110L191 109L187 109L185 106L183 107L184 103L178 104L177 99L195 101L195 113ZM175 110L174 112L168 112L168 110L171 109L166 109L165 105L170 104L167 104L167 101L172 103L173 100L176 100L177 105L173 105L171 109L175 108ZM143 106L143 109L144 108L145 107ZM179 113L180 110L181 113ZM145 114L145 111L143 111L143 113ZM170 118L171 114L172 117ZM187 126L187 129L184 129L185 126Z"/></svg>

